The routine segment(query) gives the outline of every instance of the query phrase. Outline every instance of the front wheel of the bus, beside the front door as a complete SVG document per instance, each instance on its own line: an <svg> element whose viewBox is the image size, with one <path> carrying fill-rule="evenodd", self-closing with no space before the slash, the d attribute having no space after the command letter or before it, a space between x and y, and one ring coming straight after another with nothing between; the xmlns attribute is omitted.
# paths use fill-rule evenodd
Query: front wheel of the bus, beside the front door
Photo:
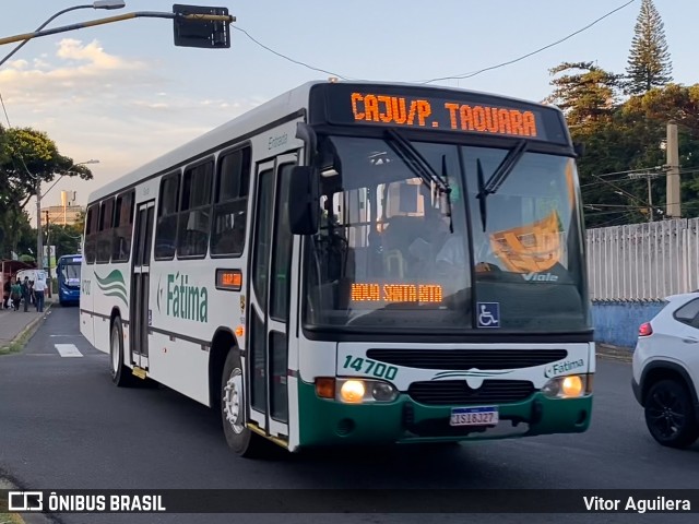
<svg viewBox="0 0 699 524"><path fill-rule="evenodd" d="M228 352L221 378L221 420L228 448L248 458L263 454L264 440L246 427L242 365L236 347Z"/></svg>

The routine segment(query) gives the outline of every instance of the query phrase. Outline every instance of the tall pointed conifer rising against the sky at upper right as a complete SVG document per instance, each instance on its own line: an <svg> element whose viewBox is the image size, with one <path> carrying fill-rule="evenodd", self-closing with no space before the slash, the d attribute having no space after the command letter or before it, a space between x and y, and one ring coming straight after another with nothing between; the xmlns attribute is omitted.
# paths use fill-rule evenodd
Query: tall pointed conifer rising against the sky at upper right
<svg viewBox="0 0 699 524"><path fill-rule="evenodd" d="M626 72L626 91L631 95L647 93L672 81L665 29L653 0L641 2Z"/></svg>

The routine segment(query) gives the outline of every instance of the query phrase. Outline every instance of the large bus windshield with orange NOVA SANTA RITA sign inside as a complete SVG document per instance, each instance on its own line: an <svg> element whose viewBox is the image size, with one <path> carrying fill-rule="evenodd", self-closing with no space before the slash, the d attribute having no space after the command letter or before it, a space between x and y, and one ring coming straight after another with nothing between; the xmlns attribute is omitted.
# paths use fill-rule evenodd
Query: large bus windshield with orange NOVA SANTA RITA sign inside
<svg viewBox="0 0 699 524"><path fill-rule="evenodd" d="M411 148L419 158L390 136L321 140L321 227L304 264L306 325L588 330L572 159L517 155L484 214L478 171L488 180L507 148L416 141ZM420 160L430 169L417 168Z"/></svg>

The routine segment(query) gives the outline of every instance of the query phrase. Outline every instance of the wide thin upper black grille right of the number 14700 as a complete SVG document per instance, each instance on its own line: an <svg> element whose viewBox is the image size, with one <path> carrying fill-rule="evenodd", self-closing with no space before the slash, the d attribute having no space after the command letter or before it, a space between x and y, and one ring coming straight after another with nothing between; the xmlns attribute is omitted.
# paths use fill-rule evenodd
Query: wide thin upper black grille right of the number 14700
<svg viewBox="0 0 699 524"><path fill-rule="evenodd" d="M369 349L367 358L419 369L522 369L562 360L566 349Z"/></svg>

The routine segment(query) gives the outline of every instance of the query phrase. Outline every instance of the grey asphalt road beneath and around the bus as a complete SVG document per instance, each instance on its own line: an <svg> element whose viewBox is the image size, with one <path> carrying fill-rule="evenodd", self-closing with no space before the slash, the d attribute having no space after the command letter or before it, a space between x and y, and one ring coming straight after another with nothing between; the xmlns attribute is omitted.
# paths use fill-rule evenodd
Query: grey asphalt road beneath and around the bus
<svg viewBox="0 0 699 524"><path fill-rule="evenodd" d="M52 309L25 352L0 358L0 469L25 489L699 488L699 444L649 436L626 362L599 359L591 429L582 434L461 444L234 456L209 410L166 388L118 389L108 357L80 335L76 308ZM62 357L73 344L83 355ZM503 502L507 495L502 493ZM696 515L126 515L63 523L696 522Z"/></svg>

